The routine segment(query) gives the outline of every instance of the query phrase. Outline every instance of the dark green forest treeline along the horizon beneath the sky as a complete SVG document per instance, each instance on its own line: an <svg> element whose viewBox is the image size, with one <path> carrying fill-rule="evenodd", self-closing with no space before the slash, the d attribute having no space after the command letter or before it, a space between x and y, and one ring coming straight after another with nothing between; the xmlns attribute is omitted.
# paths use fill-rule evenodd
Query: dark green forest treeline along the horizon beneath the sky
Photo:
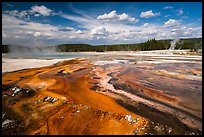
<svg viewBox="0 0 204 137"><path fill-rule="evenodd" d="M149 39L146 42L138 44L114 44L114 45L88 45L88 44L60 44L56 46L58 52L105 52L105 51L148 51L148 50L166 50L171 46L171 39L156 40ZM197 51L202 48L202 38L180 39L175 49L190 49ZM9 52L8 45L2 45L2 53Z"/></svg>

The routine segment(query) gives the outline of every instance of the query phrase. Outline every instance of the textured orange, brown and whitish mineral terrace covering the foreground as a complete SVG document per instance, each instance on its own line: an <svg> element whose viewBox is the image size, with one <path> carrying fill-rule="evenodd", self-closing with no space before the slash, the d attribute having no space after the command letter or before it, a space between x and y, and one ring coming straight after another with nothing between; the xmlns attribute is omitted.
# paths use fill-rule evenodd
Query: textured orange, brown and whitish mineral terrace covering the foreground
<svg viewBox="0 0 204 137"><path fill-rule="evenodd" d="M2 134L202 134L202 56L112 52L39 67L2 74Z"/></svg>

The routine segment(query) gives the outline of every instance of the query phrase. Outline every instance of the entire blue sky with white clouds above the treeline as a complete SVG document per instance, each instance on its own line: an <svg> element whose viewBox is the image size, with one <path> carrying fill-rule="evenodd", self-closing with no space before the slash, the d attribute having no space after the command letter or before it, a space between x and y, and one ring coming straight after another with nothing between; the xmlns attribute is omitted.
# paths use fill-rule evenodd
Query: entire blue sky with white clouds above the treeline
<svg viewBox="0 0 204 137"><path fill-rule="evenodd" d="M202 2L3 2L2 44L129 44L202 37Z"/></svg>

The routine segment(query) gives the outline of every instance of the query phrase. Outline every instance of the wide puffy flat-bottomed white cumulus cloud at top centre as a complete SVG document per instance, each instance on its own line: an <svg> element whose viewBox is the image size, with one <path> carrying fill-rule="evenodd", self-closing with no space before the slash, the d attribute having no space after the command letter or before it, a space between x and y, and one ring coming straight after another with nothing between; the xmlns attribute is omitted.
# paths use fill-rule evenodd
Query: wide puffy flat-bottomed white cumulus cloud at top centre
<svg viewBox="0 0 204 137"><path fill-rule="evenodd" d="M97 17L98 20L106 20L106 21L129 21L129 22L138 22L138 19L132 18L126 13L121 15L117 14L115 10L110 13L105 13L103 15L99 15Z"/></svg>

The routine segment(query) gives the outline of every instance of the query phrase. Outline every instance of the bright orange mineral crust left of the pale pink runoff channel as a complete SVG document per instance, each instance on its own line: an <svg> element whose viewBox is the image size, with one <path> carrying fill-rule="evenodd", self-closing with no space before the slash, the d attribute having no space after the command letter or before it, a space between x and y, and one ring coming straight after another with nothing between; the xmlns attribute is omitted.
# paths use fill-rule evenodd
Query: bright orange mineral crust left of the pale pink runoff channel
<svg viewBox="0 0 204 137"><path fill-rule="evenodd" d="M91 64L76 59L4 74L3 111L8 119L13 114L13 121L21 124L14 122L19 126L15 133L6 127L3 133L144 134L144 129L135 130L147 125L148 119L90 89L94 82L89 74L91 69ZM130 124L126 115L140 120Z"/></svg>

